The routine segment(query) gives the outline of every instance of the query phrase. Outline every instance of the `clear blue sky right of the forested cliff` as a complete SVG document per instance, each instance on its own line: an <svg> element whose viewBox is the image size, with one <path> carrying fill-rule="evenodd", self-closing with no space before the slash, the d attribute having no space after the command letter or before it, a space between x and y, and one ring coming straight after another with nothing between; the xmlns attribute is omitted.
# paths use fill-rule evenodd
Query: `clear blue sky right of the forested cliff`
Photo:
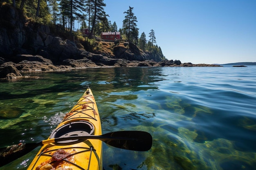
<svg viewBox="0 0 256 170"><path fill-rule="evenodd" d="M139 37L157 45L168 60L193 64L256 62L256 0L104 0L108 20L122 27L134 7Z"/></svg>

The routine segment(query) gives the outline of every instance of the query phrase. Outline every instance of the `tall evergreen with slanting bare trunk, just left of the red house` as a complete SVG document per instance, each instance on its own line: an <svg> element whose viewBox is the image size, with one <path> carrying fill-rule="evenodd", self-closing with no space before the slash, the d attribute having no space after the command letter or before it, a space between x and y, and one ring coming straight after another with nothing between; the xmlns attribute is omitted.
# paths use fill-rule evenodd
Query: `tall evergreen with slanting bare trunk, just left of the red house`
<svg viewBox="0 0 256 170"><path fill-rule="evenodd" d="M96 20L103 20L105 16L108 16L104 11L104 7L106 7L106 4L103 3L103 0L93 1L94 15L93 15L93 21L92 21L92 29L89 35L90 38L92 38Z"/></svg>

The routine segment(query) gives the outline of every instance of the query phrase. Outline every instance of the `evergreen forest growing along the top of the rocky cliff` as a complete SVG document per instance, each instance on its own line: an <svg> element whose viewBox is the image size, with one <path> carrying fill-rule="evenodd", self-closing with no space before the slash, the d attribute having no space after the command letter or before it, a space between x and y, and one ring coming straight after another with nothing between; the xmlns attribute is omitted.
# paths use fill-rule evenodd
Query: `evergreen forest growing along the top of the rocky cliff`
<svg viewBox="0 0 256 170"><path fill-rule="evenodd" d="M117 28L116 22L113 24L108 18L108 14L104 11L106 4L103 0L1 0L2 5L9 4L25 15L25 17L38 24L48 25L52 29L62 29L63 36L67 39L78 39L87 41L88 50L95 49L98 43L95 38L100 40L102 32L120 32L122 39L134 43L141 50L148 51L153 55L165 59L160 46L156 44L155 32L153 29L148 34L149 40L146 40L145 32L139 37L139 28L137 28L137 18L129 7L122 28ZM75 21L81 23L81 29L88 29L88 38L83 38L81 31L74 30ZM54 32L54 31L52 31ZM98 48L99 49L99 48ZM91 51L94 52L94 51Z"/></svg>

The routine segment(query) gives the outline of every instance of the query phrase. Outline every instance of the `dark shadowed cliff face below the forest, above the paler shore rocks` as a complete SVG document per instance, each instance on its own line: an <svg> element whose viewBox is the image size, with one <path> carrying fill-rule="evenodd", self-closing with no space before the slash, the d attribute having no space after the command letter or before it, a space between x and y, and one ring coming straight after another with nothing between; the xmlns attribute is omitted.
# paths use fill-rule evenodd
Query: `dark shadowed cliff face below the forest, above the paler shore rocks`
<svg viewBox="0 0 256 170"><path fill-rule="evenodd" d="M76 43L67 39L63 40L56 36L56 33L54 35L49 26L28 21L23 16L22 11L9 5L1 6L0 17L1 23L4 23L0 26L0 57L10 60L16 60L17 55L20 54L40 55L51 60L55 65L62 64L63 60L66 59L81 60L84 57L88 57L89 60L92 59L92 62L111 66L117 62L116 59L155 60L157 62L162 60L160 57L140 50L132 43L122 43L126 47L124 45L115 46L113 49L114 56L93 55L85 49L81 49L81 44L78 47ZM54 29L55 32L58 31L58 28L55 27Z"/></svg>

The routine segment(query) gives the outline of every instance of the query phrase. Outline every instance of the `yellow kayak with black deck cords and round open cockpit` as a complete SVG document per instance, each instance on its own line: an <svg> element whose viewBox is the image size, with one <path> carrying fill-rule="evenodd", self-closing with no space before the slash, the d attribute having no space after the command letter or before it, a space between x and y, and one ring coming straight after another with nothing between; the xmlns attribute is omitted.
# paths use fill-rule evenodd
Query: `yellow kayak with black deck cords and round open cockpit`
<svg viewBox="0 0 256 170"><path fill-rule="evenodd" d="M90 88L48 139L102 135L99 111ZM27 170L101 170L103 145L98 139L44 144Z"/></svg>

